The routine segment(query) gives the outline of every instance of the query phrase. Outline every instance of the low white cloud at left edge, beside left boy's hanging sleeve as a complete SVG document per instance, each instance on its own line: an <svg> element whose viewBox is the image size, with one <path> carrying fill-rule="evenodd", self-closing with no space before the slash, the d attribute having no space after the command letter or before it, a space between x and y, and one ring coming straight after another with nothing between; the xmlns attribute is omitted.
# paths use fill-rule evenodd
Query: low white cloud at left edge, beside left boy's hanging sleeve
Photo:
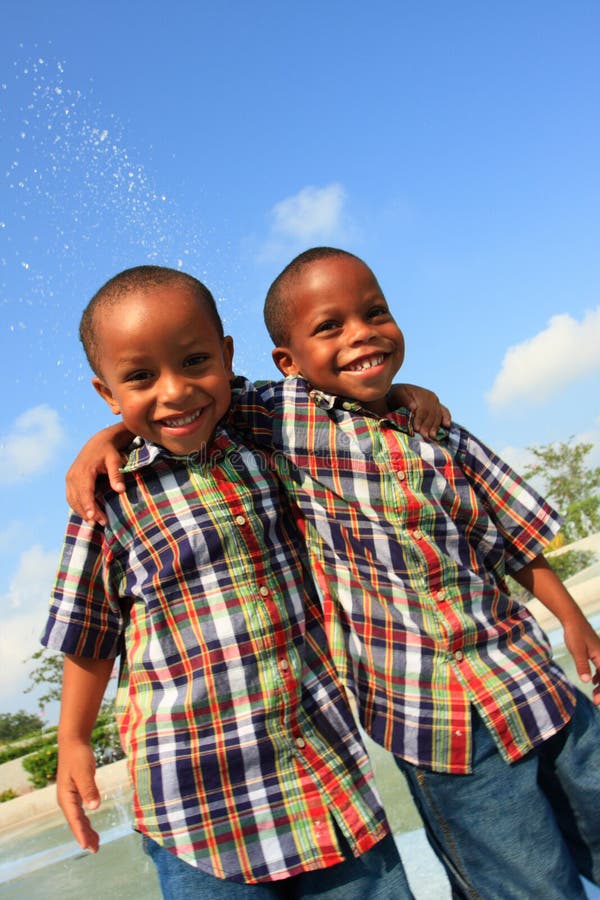
<svg viewBox="0 0 600 900"><path fill-rule="evenodd" d="M25 550L17 563L8 591L0 596L0 710L35 712L35 699L23 694L31 665L25 664L40 648L40 634L48 613L48 602L58 552L44 550L39 544Z"/></svg>

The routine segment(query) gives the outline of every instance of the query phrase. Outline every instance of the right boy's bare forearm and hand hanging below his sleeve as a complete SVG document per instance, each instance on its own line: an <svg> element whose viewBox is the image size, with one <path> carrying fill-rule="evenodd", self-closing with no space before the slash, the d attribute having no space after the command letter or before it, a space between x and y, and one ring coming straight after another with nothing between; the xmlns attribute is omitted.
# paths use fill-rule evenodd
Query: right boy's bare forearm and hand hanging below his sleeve
<svg viewBox="0 0 600 900"><path fill-rule="evenodd" d="M593 700L600 705L600 637L596 634L575 600L541 554L518 572L515 581L530 591L560 621L564 629L565 645L575 661L582 681L595 687ZM595 672L590 676L590 660Z"/></svg>

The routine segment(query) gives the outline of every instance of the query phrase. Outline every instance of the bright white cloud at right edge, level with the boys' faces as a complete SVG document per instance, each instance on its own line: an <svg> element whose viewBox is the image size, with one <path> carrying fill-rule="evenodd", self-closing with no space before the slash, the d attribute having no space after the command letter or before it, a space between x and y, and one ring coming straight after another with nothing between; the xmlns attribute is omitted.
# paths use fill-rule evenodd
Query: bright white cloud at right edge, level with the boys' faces
<svg viewBox="0 0 600 900"><path fill-rule="evenodd" d="M567 384L600 371L600 306L581 322L553 316L535 337L509 347L486 399L493 409L511 403L542 405Z"/></svg>

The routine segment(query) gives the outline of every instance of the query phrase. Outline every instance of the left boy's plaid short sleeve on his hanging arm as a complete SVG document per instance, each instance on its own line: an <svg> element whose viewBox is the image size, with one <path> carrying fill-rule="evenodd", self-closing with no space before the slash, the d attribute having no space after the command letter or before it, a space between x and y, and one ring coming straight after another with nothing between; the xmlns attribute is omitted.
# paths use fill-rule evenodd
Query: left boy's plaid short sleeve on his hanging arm
<svg viewBox="0 0 600 900"><path fill-rule="evenodd" d="M124 616L115 566L104 529L71 514L41 638L45 647L91 659L119 655Z"/></svg>

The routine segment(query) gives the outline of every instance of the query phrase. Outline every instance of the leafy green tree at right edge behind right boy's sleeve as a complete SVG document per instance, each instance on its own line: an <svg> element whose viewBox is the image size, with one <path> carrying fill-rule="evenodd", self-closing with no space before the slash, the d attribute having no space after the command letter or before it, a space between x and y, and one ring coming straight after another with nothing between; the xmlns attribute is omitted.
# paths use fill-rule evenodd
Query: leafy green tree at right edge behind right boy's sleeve
<svg viewBox="0 0 600 900"><path fill-rule="evenodd" d="M590 468L586 457L593 444L568 441L529 447L534 461L525 467L525 478L536 478L543 493L563 516L561 535L565 544L600 531L600 467ZM549 548L549 549L554 549ZM584 569L594 559L587 551L567 551L550 556L549 562L564 580Z"/></svg>

